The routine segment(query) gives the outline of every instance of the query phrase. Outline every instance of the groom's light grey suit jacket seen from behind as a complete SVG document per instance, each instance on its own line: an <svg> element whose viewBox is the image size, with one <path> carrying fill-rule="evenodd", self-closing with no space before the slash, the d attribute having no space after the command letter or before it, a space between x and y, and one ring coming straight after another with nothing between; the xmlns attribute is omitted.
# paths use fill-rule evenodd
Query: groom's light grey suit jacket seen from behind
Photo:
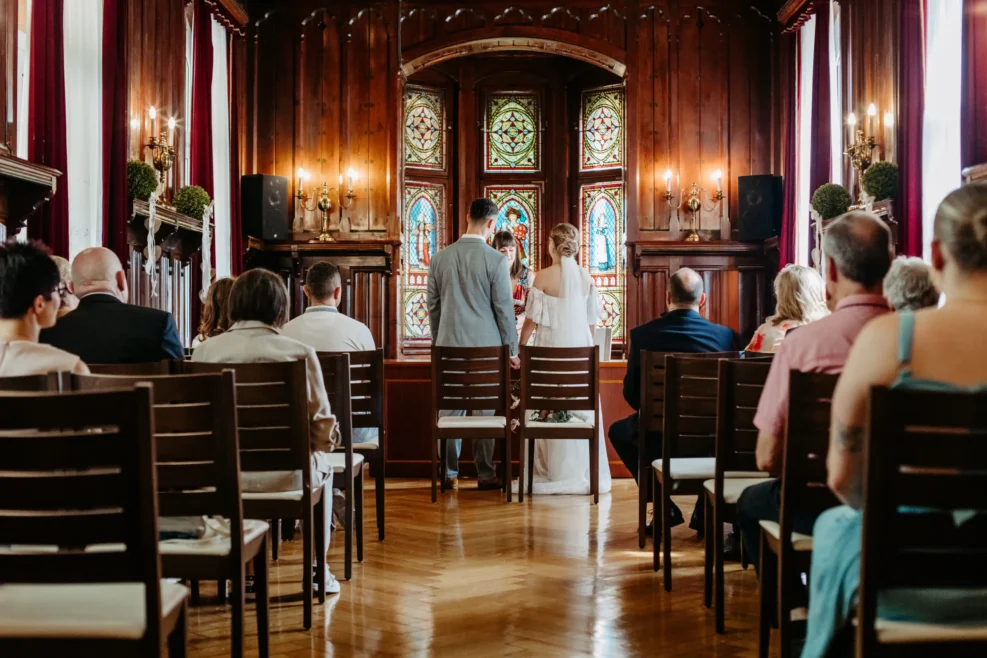
<svg viewBox="0 0 987 658"><path fill-rule="evenodd" d="M510 345L516 356L517 322L503 254L472 237L437 253L428 271L428 322L434 345Z"/></svg>

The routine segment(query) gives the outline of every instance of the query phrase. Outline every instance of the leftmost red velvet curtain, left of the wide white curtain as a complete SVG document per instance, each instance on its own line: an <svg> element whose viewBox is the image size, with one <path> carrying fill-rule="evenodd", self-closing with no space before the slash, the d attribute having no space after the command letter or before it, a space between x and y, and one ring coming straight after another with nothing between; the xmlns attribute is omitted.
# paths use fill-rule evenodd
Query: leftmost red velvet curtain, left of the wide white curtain
<svg viewBox="0 0 987 658"><path fill-rule="evenodd" d="M8 0L9 1L9 0ZM58 190L28 221L27 233L52 253L69 255L68 153L65 134L65 51L62 0L35 2L31 19L28 160L62 172ZM6 101L4 101L6 102Z"/></svg>

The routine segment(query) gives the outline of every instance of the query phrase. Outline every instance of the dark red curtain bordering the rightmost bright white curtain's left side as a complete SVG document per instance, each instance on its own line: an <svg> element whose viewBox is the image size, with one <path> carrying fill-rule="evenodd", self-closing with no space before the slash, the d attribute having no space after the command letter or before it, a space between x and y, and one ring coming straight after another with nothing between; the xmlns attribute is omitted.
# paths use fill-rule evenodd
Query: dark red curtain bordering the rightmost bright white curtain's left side
<svg viewBox="0 0 987 658"><path fill-rule="evenodd" d="M970 2L970 0L967 0ZM898 216L901 251L922 255L922 132L925 122L925 0L901 0L898 38ZM987 71L987 67L985 67ZM987 91L987 85L984 90ZM965 92L964 92L965 93ZM964 108L966 105L964 104ZM981 128L983 130L983 128ZM987 131L984 131L987 135ZM968 140L969 141L969 140ZM964 142L966 148L966 141Z"/></svg>

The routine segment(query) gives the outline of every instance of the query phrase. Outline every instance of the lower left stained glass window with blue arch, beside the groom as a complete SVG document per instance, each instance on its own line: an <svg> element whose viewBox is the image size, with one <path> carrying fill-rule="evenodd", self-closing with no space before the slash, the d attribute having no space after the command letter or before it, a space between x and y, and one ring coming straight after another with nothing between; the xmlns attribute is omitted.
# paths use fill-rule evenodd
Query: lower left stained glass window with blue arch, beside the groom
<svg viewBox="0 0 987 658"><path fill-rule="evenodd" d="M428 342L428 267L441 248L445 186L408 181L404 186L401 295L405 341Z"/></svg>

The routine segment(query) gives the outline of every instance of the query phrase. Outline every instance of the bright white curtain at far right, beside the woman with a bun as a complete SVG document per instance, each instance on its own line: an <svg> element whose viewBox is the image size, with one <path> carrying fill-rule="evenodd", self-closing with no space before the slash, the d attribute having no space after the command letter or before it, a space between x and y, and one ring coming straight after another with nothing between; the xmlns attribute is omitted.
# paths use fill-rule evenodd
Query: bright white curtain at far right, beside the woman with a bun
<svg viewBox="0 0 987 658"><path fill-rule="evenodd" d="M929 259L936 208L960 184L963 2L927 0L922 140L922 255Z"/></svg>

